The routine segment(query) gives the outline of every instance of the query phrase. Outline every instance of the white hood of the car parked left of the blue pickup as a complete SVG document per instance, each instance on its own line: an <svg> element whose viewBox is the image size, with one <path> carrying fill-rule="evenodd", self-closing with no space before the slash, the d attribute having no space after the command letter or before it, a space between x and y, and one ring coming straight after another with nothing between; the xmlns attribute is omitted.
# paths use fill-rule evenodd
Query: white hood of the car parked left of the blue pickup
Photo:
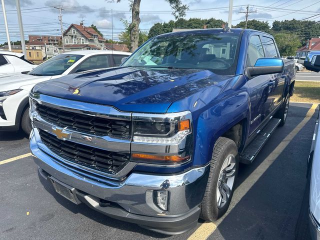
<svg viewBox="0 0 320 240"><path fill-rule="evenodd" d="M41 81L49 80L52 76L33 76L22 73L6 74L0 77L0 91L21 88L24 85L36 84Z"/></svg>

